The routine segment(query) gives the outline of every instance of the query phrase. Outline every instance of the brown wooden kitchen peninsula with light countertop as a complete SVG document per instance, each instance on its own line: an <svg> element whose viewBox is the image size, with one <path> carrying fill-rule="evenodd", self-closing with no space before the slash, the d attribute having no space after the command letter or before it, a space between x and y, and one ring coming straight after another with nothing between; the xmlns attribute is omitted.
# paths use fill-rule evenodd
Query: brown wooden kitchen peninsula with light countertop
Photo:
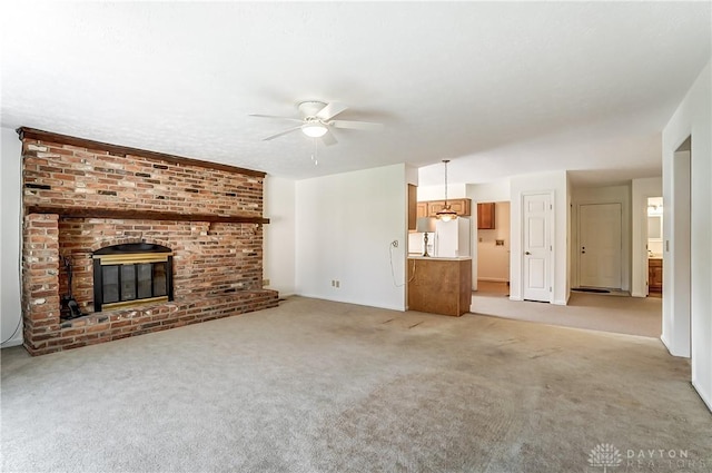
<svg viewBox="0 0 712 473"><path fill-rule="evenodd" d="M461 316L472 302L472 257L408 256L408 309Z"/></svg>

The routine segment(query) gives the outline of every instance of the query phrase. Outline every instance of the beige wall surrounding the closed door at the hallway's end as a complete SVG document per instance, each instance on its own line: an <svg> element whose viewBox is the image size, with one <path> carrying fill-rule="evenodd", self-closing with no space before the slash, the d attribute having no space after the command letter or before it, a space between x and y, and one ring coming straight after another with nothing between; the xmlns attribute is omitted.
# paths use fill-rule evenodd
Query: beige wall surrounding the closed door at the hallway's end
<svg viewBox="0 0 712 473"><path fill-rule="evenodd" d="M631 287L631 186L573 188L571 211L571 284L578 286L578 206L587 204L621 204L621 289Z"/></svg>

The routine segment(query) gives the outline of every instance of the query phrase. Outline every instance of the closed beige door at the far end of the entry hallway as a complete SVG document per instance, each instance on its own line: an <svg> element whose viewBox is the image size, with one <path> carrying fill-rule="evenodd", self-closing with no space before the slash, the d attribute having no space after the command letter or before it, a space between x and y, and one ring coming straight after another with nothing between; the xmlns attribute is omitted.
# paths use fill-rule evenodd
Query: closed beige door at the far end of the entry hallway
<svg viewBox="0 0 712 473"><path fill-rule="evenodd" d="M578 206L578 285L621 288L621 204Z"/></svg>

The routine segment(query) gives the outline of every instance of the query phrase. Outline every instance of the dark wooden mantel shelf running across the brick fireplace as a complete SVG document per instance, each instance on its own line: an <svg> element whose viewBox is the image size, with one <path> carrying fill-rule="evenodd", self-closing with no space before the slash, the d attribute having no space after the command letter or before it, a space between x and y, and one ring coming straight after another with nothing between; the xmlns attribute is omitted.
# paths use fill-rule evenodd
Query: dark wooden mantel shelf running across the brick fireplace
<svg viewBox="0 0 712 473"><path fill-rule="evenodd" d="M26 214L57 214L71 218L117 218L131 220L176 220L176 221L208 221L222 224L269 224L269 218L244 217L239 215L216 214L178 214L175 211L130 210L111 208L86 207L44 207L28 206Z"/></svg>

